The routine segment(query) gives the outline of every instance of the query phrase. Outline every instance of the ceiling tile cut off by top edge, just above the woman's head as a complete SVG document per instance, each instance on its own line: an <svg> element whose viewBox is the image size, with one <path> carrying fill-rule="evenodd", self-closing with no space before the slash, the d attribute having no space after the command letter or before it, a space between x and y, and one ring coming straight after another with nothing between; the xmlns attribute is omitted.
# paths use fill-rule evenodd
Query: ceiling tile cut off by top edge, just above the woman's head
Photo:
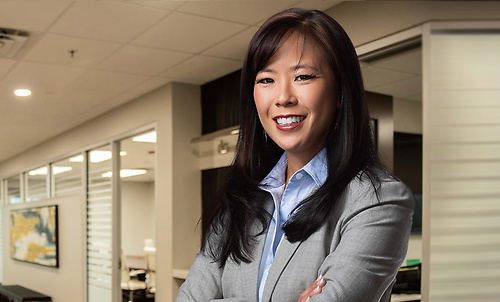
<svg viewBox="0 0 500 302"><path fill-rule="evenodd" d="M178 11L254 25L297 1L189 1Z"/></svg>

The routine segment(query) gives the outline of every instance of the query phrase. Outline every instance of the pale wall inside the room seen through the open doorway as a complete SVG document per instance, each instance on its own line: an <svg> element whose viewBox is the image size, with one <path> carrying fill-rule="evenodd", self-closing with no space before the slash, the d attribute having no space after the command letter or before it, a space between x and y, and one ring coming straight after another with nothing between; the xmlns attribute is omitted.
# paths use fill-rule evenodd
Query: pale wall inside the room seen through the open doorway
<svg viewBox="0 0 500 302"><path fill-rule="evenodd" d="M125 255L143 255L144 240L155 238L154 182L122 181L122 249Z"/></svg>

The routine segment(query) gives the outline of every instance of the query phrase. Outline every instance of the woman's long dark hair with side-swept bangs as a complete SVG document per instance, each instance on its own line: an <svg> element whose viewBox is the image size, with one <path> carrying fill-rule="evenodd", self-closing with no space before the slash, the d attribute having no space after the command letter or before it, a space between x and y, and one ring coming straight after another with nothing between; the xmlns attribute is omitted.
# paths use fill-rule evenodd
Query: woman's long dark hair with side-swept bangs
<svg viewBox="0 0 500 302"><path fill-rule="evenodd" d="M266 193L260 181L283 154L266 139L257 115L253 89L255 77L292 33L303 36L324 51L333 72L338 99L325 147L328 159L326 182L302 201L285 224L291 242L306 240L328 219L348 183L373 169L385 170L375 151L370 118L358 57L344 29L333 18L317 10L289 9L268 19L250 42L243 64L240 86L241 123L236 157L226 184L217 196L219 207L205 234L203 249L222 266L252 260L255 237L265 232L269 213L263 208ZM255 226L260 226L255 231Z"/></svg>

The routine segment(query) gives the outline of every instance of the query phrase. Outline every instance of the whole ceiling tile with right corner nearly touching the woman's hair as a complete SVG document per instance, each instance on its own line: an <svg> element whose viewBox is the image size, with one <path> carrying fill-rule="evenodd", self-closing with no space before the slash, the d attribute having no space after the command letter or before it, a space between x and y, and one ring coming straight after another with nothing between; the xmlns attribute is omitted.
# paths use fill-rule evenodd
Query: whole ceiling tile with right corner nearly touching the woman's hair
<svg viewBox="0 0 500 302"><path fill-rule="evenodd" d="M198 53L246 28L246 25L172 13L133 44Z"/></svg>

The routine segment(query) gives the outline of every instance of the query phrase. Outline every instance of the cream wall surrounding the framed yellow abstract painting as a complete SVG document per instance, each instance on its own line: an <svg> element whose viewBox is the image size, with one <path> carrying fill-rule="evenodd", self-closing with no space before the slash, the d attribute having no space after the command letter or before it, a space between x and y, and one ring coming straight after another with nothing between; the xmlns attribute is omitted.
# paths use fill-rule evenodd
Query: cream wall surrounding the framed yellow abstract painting
<svg viewBox="0 0 500 302"><path fill-rule="evenodd" d="M84 296L84 202L83 198L72 196L3 206L3 284L23 285L51 296L54 302L82 301L79 299ZM54 204L58 205L59 217L59 268L10 259L10 210Z"/></svg>

